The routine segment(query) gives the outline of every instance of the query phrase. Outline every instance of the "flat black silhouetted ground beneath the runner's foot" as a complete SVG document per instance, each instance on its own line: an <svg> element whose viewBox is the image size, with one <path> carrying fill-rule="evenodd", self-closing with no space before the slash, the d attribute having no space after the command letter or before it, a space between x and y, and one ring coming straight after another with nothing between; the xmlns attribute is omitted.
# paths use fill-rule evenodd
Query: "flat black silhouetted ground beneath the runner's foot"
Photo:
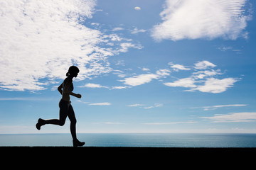
<svg viewBox="0 0 256 170"><path fill-rule="evenodd" d="M0 147L4 169L254 169L256 148Z"/></svg>

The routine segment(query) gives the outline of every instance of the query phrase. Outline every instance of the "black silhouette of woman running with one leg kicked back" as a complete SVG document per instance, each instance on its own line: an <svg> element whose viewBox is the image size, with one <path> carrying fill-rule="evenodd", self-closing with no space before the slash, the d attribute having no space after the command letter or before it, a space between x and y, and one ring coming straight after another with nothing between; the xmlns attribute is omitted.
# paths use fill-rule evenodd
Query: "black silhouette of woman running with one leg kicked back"
<svg viewBox="0 0 256 170"><path fill-rule="evenodd" d="M43 120L39 118L38 123L36 123L36 128L38 130L41 129L42 125L46 125L46 124L63 126L68 116L68 118L70 119L70 132L73 137L73 147L85 145L85 142L80 142L77 139L76 131L75 131L75 124L77 121L75 119L75 113L70 101L70 95L75 96L77 98L82 97L81 94L74 94L72 92L74 89L73 78L78 76L78 72L79 72L78 67L71 66L68 69L68 72L66 74L67 78L63 81L62 84L60 84L60 86L58 86L58 91L60 91L60 94L62 95L62 98L59 103L60 119Z"/></svg>

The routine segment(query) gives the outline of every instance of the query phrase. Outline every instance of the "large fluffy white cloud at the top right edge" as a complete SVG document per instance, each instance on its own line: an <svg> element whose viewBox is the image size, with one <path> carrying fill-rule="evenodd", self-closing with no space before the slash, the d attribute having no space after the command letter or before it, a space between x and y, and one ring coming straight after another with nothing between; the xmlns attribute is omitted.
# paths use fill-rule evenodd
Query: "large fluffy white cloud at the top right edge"
<svg viewBox="0 0 256 170"><path fill-rule="evenodd" d="M154 26L155 40L198 38L247 38L245 28L251 14L246 15L247 0L166 0L163 20ZM250 13L250 10L248 10Z"/></svg>

